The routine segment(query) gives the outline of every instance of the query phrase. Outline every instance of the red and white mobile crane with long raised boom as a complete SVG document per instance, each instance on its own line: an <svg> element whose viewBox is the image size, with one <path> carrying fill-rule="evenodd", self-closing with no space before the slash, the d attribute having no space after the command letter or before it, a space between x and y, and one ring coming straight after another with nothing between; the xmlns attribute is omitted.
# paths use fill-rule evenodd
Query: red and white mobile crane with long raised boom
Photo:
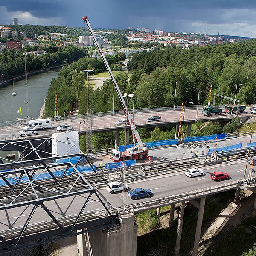
<svg viewBox="0 0 256 256"><path fill-rule="evenodd" d="M104 53L102 52L102 49L98 43L98 41L96 40L96 36L93 32L93 29L90 25L90 22L88 20L88 17L85 16L82 18L82 20L84 20L84 22L87 24L88 26L88 29L93 37L93 40L97 46L97 48L99 49L99 53L100 55L102 56L102 60L105 64L105 67L106 69L108 70L108 73L111 77L111 80L114 84L114 87L116 89L116 92L117 92L117 95L122 103L122 107L123 107L123 113L125 114L126 116L126 119L128 121L128 124L130 125L131 127L131 131L132 131L132 134L133 134L133 146L129 149L127 149L127 151L125 152L120 152L118 151L117 149L112 149L111 150L111 153L110 153L110 157L111 159L114 161L114 162L118 162L118 161L122 161L124 159L143 159L144 157L148 157L148 148L147 146L142 142L142 140L140 139L140 135L137 131L137 128L136 128L136 125L134 123L134 120L132 119L132 115L131 113L129 112L128 110L128 107L127 105L125 104L125 100L123 99L122 97L122 93L118 87L118 84L116 83L116 79L114 78L113 76L113 73L111 71L111 68L109 67L109 64L108 64L108 61L106 60L105 58L105 55ZM136 145L136 141L137 141L137 145Z"/></svg>

